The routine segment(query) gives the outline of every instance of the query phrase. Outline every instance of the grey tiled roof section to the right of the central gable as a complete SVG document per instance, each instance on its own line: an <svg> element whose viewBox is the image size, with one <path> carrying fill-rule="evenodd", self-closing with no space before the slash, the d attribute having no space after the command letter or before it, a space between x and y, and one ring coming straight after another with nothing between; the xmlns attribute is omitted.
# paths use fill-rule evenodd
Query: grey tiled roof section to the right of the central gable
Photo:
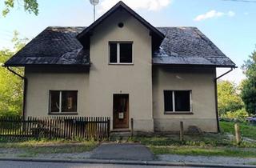
<svg viewBox="0 0 256 168"><path fill-rule="evenodd" d="M154 51L154 64L235 66L213 42L196 27L158 27L166 35Z"/></svg>

